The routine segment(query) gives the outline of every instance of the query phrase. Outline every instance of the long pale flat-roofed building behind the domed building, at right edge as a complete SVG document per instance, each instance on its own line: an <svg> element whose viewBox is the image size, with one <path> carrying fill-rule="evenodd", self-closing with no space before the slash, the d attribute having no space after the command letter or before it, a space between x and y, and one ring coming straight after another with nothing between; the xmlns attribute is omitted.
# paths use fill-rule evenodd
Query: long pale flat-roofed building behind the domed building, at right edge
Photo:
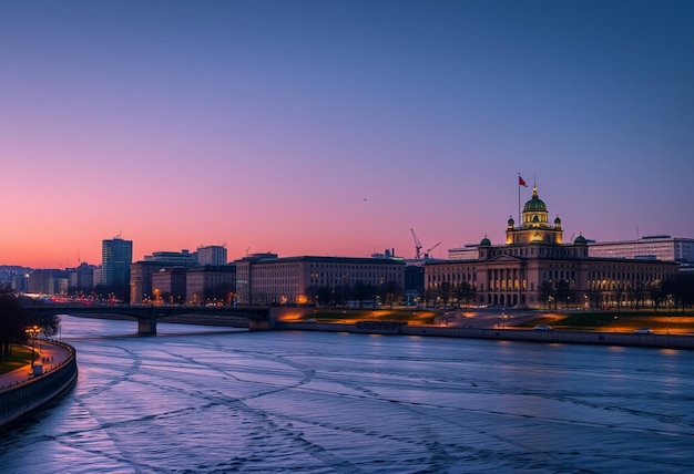
<svg viewBox="0 0 694 474"><path fill-rule="evenodd" d="M694 239L649 236L636 240L589 243L588 255L600 258L633 258L694 264Z"/></svg>

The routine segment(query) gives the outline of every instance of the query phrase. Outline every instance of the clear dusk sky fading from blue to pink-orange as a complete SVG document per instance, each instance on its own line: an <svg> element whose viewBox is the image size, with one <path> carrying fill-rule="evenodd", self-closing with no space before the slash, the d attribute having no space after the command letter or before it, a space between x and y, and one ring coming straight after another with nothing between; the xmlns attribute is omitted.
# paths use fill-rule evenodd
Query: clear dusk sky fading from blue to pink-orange
<svg viewBox="0 0 694 474"><path fill-rule="evenodd" d="M0 2L0 264L694 238L694 2ZM529 184L520 187L518 176ZM520 192L520 195L519 195ZM441 243L437 246L438 243Z"/></svg>

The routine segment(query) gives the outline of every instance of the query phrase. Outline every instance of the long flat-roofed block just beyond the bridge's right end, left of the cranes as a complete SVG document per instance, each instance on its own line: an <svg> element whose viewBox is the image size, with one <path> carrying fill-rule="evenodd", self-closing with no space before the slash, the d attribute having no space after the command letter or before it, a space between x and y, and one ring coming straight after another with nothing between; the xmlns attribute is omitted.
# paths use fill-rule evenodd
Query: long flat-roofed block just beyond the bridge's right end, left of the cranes
<svg viewBox="0 0 694 474"><path fill-rule="evenodd" d="M405 261L391 258L246 256L236 264L239 305L307 303L313 291L340 292L357 285L376 289L405 286ZM333 295L333 300L344 300ZM329 303L325 300L324 303ZM369 295L375 299L376 295Z"/></svg>

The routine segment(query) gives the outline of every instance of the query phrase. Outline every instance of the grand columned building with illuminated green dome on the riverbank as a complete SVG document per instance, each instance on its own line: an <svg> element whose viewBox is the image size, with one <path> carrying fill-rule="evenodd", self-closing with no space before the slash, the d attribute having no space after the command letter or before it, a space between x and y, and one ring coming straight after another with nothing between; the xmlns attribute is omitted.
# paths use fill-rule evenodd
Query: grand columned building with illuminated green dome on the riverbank
<svg viewBox="0 0 694 474"><path fill-rule="evenodd" d="M624 303L627 291L647 288L678 271L660 260L591 258L588 239L563 243L562 220L550 224L538 187L523 206L521 223L507 220L506 243L484 236L477 246L449 250L448 260L425 264L425 288L436 293L442 282L468 287L474 305L503 307L605 307ZM561 302L558 301L561 299Z"/></svg>

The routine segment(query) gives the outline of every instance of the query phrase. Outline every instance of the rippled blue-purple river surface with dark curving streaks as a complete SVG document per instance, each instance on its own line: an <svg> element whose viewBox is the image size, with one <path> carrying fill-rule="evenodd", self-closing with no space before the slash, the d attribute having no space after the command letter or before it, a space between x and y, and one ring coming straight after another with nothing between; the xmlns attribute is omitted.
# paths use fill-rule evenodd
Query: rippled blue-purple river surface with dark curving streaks
<svg viewBox="0 0 694 474"><path fill-rule="evenodd" d="M690 472L694 352L63 318L3 472Z"/></svg>

